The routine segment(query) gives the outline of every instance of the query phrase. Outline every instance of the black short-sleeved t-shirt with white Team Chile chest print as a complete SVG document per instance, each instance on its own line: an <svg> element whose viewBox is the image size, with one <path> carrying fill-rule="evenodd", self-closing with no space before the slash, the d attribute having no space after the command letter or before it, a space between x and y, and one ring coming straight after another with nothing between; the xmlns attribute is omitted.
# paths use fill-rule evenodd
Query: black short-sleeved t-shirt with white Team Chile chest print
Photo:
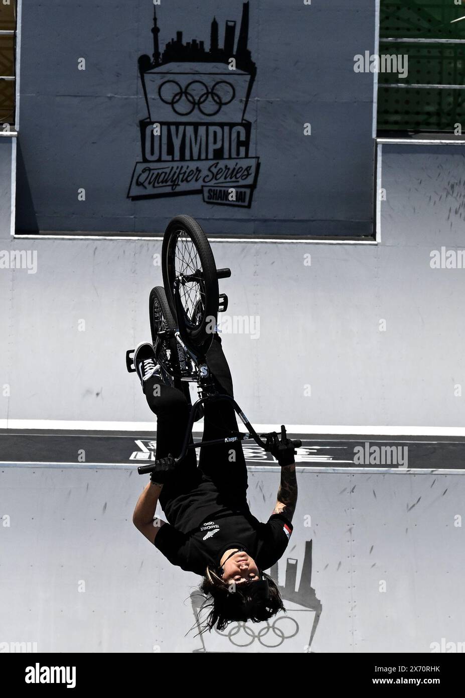
<svg viewBox="0 0 465 698"><path fill-rule="evenodd" d="M189 533L165 523L154 544L171 564L202 576L207 565L218 567L224 552L232 548L245 550L259 570L268 570L284 554L292 530L284 514L272 514L261 523L248 507L230 511L221 507Z"/></svg>

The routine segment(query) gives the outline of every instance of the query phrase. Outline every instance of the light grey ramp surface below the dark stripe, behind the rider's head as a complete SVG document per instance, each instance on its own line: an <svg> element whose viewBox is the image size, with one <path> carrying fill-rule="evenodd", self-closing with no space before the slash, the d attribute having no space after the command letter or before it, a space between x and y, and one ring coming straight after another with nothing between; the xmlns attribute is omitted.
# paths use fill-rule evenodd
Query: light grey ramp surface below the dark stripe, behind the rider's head
<svg viewBox="0 0 465 698"><path fill-rule="evenodd" d="M170 565L132 525L146 480L135 468L3 468L0 651L13 642L36 642L39 652L461 647L463 475L307 471L298 479L294 532L270 570L287 615L268 630L233 624L201 639L197 628L185 637L200 577ZM278 481L278 468L249 473L250 509L261 521Z"/></svg>

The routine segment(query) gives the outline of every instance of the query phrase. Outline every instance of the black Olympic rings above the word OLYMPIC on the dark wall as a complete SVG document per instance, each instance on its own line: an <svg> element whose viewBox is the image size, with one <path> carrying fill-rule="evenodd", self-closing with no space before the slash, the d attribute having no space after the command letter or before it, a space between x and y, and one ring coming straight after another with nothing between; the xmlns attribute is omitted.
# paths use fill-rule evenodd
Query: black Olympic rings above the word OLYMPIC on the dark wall
<svg viewBox="0 0 465 698"><path fill-rule="evenodd" d="M184 88L176 80L165 80L158 87L158 96L180 117L192 114L195 107L204 117L214 117L233 101L236 90L226 80L218 80L211 89L201 80L191 80Z"/></svg>

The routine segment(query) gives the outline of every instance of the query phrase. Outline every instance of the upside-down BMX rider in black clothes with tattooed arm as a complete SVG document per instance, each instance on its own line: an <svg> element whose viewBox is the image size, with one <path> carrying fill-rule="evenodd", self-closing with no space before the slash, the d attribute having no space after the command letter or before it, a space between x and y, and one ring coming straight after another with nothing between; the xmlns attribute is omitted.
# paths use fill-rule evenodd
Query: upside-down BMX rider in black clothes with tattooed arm
<svg viewBox="0 0 465 698"><path fill-rule="evenodd" d="M218 334L206 354L218 391L233 396L231 373ZM157 415L155 457L181 452L190 405L181 390L167 385L155 365L153 346L139 344L134 363L148 406ZM204 440L227 438L238 431L228 401L204 404ZM136 528L182 570L202 577L200 590L211 608L206 628L224 630L231 621L265 621L284 609L268 570L281 558L292 534L297 502L294 445L284 428L270 442L281 466L275 508L266 523L247 505L247 467L241 442L202 446L167 471L164 482L151 475L137 500ZM160 502L167 521L155 517ZM205 629L206 629L205 628Z"/></svg>

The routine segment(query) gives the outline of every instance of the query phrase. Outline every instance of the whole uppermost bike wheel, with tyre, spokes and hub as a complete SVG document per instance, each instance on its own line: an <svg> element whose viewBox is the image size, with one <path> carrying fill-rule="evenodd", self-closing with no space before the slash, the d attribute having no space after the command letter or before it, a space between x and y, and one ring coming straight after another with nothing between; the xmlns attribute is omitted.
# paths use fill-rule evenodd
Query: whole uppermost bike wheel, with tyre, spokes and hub
<svg viewBox="0 0 465 698"><path fill-rule="evenodd" d="M162 274L181 336L205 354L218 319L218 274L206 235L191 216L176 216L169 222L162 245Z"/></svg>

